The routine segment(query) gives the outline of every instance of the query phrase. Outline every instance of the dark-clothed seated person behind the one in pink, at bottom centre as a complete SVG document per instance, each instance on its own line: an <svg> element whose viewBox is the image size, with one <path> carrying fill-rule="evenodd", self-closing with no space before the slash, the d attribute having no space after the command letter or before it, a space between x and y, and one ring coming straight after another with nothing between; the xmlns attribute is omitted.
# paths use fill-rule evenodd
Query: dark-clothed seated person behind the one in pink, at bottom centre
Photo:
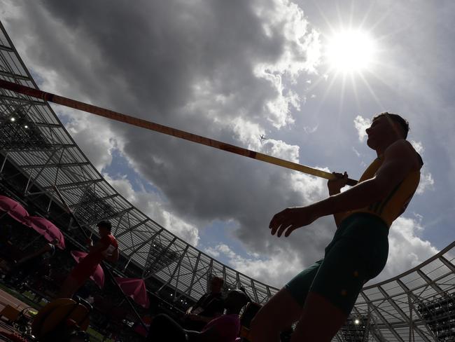
<svg viewBox="0 0 455 342"><path fill-rule="evenodd" d="M223 314L224 302L221 298L223 284L223 278L212 278L210 282L211 291L204 294L194 306L186 310L183 319L185 329L201 331L208 322Z"/></svg>

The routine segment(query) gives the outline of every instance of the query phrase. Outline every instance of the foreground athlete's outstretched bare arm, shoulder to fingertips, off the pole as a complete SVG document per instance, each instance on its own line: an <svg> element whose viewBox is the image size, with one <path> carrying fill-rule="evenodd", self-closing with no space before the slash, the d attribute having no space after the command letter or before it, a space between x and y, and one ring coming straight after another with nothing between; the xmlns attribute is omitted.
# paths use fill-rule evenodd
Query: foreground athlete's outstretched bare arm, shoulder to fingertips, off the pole
<svg viewBox="0 0 455 342"><path fill-rule="evenodd" d="M288 236L293 230L307 226L319 217L367 207L384 198L402 179L410 172L419 170L419 167L417 154L409 142L398 140L388 146L384 153L384 163L372 179L307 207L287 208L279 212L270 221L271 233L281 236L287 229L285 236Z"/></svg>

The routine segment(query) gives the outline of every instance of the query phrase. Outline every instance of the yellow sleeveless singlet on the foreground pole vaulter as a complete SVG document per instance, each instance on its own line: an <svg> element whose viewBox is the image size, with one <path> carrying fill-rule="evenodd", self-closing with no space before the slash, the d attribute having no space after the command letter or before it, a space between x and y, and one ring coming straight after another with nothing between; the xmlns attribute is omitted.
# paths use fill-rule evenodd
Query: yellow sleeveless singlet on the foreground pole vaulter
<svg viewBox="0 0 455 342"><path fill-rule="evenodd" d="M419 157L420 164L423 165L423 160L419 153L417 153L417 156ZM370 166L367 167L367 170L363 172L358 182L361 183L367 179L372 179L383 162L384 158L373 160ZM417 186L419 186L419 181L420 170L413 171L405 179L402 179L386 197L372 203L368 207L346 212L344 218L356 212L367 212L380 217L390 227L393 221L405 212L407 205L411 202L412 196L416 192Z"/></svg>

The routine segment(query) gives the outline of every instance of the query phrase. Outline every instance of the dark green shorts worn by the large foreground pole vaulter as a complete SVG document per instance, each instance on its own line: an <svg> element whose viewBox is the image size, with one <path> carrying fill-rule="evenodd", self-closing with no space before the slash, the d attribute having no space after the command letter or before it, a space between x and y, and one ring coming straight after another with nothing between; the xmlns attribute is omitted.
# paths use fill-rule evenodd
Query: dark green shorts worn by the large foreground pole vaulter
<svg viewBox="0 0 455 342"><path fill-rule="evenodd" d="M379 217L355 213L342 221L324 259L297 274L285 288L303 307L316 292L349 315L365 282L386 266L388 226Z"/></svg>

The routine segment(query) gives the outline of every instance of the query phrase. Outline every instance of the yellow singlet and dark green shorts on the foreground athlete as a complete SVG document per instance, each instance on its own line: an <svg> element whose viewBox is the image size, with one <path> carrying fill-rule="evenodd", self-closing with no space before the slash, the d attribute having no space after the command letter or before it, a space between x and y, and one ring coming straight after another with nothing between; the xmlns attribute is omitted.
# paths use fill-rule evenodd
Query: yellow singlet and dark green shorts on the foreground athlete
<svg viewBox="0 0 455 342"><path fill-rule="evenodd" d="M372 179L383 161L374 160L359 182ZM419 171L411 172L377 203L344 213L324 258L285 285L295 301L303 307L308 292L316 292L349 315L365 282L386 266L388 228L405 211L419 179Z"/></svg>

